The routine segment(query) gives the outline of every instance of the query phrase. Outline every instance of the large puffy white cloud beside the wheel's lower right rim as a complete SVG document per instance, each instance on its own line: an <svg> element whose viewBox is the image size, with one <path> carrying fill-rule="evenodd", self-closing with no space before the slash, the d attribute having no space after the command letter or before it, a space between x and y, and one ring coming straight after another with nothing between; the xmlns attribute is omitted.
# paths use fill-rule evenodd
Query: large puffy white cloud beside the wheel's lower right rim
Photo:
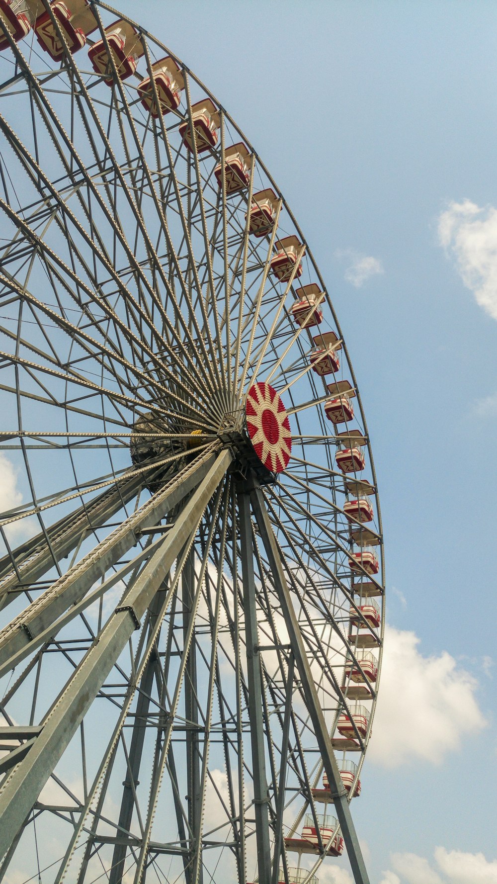
<svg viewBox="0 0 497 884"><path fill-rule="evenodd" d="M386 627L378 710L368 758L386 767L414 758L440 764L464 734L486 726L478 683L446 651L424 657L414 632Z"/></svg>

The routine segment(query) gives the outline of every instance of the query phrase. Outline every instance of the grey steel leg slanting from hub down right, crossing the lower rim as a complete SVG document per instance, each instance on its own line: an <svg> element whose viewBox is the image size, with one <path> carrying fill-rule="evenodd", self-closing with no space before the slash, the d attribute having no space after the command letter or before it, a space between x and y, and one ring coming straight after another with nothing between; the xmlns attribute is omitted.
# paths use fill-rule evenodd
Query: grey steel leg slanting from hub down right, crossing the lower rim
<svg viewBox="0 0 497 884"><path fill-rule="evenodd" d="M333 801L338 821L340 823L341 833L343 834L347 847L352 873L354 874L356 884L369 884L370 879L366 871L366 866L364 865L363 853L357 838L356 827L354 826L350 814L347 792L343 788L343 782L340 777L340 768L332 749L330 736L328 734L328 729L326 728L325 716L322 712L319 698L317 697L317 690L302 641L299 622L288 590L285 572L281 564L279 545L274 536L271 521L265 507L263 492L260 488L255 488L250 492L250 502L254 515L256 516L257 526L260 531L264 550L271 569L271 581L278 594L281 613L285 619L288 636L290 638L290 643L292 644L295 663L300 675L302 692L316 735L317 745L321 752L321 758L323 760L323 765L325 766L325 772L328 777L328 782L330 783L330 788L335 796Z"/></svg>

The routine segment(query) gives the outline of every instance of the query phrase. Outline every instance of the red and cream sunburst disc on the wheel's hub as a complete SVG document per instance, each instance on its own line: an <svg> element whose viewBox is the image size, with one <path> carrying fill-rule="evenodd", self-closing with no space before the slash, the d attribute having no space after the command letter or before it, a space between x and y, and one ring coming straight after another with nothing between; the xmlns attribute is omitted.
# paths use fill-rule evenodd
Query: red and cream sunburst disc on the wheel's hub
<svg viewBox="0 0 497 884"><path fill-rule="evenodd" d="M274 387L265 381L253 384L245 404L247 430L257 457L271 473L287 469L292 434L287 409Z"/></svg>

